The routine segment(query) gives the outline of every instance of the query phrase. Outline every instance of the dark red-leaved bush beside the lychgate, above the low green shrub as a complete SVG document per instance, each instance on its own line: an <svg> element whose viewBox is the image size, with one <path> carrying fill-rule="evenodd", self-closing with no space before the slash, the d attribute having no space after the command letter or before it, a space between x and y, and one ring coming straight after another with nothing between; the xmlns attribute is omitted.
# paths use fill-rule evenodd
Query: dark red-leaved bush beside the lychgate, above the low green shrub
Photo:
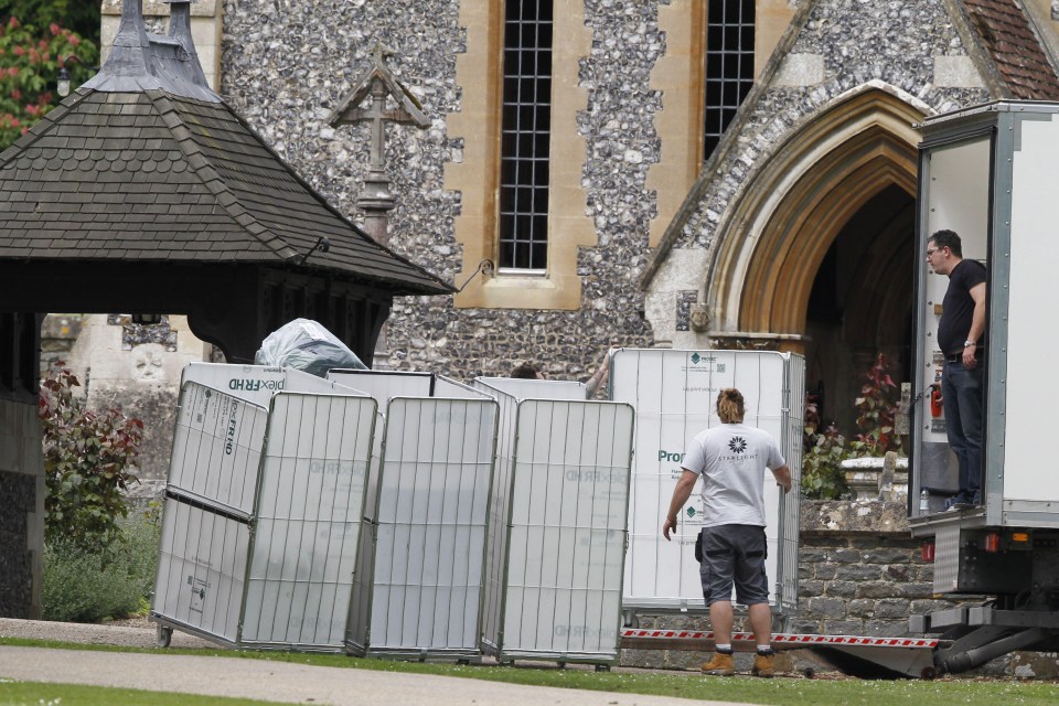
<svg viewBox="0 0 1059 706"><path fill-rule="evenodd" d="M44 427L44 539L99 553L121 534L124 491L132 474L143 422L120 409L88 409L74 397L81 383L56 363L41 381Z"/></svg>

